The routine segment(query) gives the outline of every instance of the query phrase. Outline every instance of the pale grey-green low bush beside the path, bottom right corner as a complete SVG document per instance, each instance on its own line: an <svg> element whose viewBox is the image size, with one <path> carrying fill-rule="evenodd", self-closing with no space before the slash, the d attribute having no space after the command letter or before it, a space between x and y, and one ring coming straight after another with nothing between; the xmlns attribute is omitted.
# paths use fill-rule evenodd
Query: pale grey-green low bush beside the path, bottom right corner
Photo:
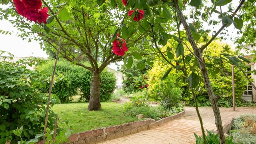
<svg viewBox="0 0 256 144"><path fill-rule="evenodd" d="M229 130L229 135L233 136L234 141L237 143L256 144L256 130L255 127L253 127L253 124L255 123L256 114L241 115L240 117L235 118L231 130Z"/></svg>

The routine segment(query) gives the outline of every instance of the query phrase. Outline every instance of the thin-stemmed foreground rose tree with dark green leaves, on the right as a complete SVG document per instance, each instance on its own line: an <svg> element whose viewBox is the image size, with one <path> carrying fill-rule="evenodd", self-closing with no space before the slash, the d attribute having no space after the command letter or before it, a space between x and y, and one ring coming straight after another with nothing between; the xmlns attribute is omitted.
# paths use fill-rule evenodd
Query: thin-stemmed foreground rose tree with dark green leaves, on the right
<svg viewBox="0 0 256 144"><path fill-rule="evenodd" d="M230 3L231 0L212 0L212 4L210 6L207 6L206 4L202 3L201 0L191 0L189 5L187 4L187 0L181 1L181 0L163 0L163 1L157 1L157 0L129 0L128 3L125 3L125 6L127 9L132 9L131 11L136 11L135 15L129 15L131 16L131 19L133 18L139 18L139 10L143 9L145 11L145 15L143 16L143 21L138 21L137 25L138 28L141 29L140 32L145 33L146 37L149 37L151 39L151 46L153 50L160 53L160 56L166 60L170 68L167 70L166 74L163 76L163 79L168 75L168 73L172 70L172 68L177 69L178 71L182 71L185 76L185 82L189 84L189 88L192 91L192 94L195 98L196 103L196 110L197 115L200 120L201 129L204 137L204 143L205 136L204 136L204 128L202 123L202 118L200 117L200 113L197 106L196 96L194 93L194 89L197 88L200 77L196 73L197 68L200 69L200 72L202 73L203 81L208 93L208 96L211 101L212 109L215 116L215 124L217 126L217 130L219 133L219 139L221 144L225 144L225 136L224 131L222 127L222 121L221 121L221 114L218 108L218 99L220 96L217 96L214 94L214 91L211 87L211 82L208 75L208 69L207 67L209 65L206 64L205 58L207 58L210 61L210 64L214 67L217 63L221 62L222 59L225 59L229 61L231 64L238 65L238 62L242 63L241 60L247 61L243 57L238 57L241 60L239 60L237 57L225 55L218 57L210 57L205 54L207 51L207 46L214 41L214 39L218 36L221 31L227 27L230 26L234 21L234 26L237 29L241 29L242 27L242 20L239 16L236 16L238 10L241 8L242 4L244 3L244 0L240 2L236 10L233 11L227 11L222 12L217 10L217 7L222 7L228 3ZM183 11L186 10L186 7L192 7L192 15L191 18L193 19L193 23L188 23L186 19L187 16L183 15ZM203 12L201 12L202 8L204 8ZM220 8L221 9L221 8ZM216 14L219 14L219 18L221 21L217 20L211 20L209 22L209 18L211 18L211 15L213 15L213 12ZM236 16L236 17L235 17ZM202 17L202 19L200 19ZM212 38L208 39L208 33L209 30L204 29L203 27L203 21L210 25L216 25L219 22L222 22L221 28L212 36ZM169 23L168 23L169 22ZM174 22L174 23L173 23ZM181 24L185 31L181 30ZM168 29L167 26L173 26L176 27L173 31L173 29ZM169 34L172 33L172 34ZM185 35L184 35L185 33ZM177 35L177 36L176 36ZM199 45L197 41L200 40L200 37L203 37L205 44ZM161 46L165 46L168 39L173 38L176 40L176 57L179 58L178 61L176 61L176 65L174 64L173 58L169 58L169 52L167 49L167 52L162 52ZM187 43L189 42L189 45L192 47L190 49L187 46ZM190 52L190 54L185 55L184 54L184 46L185 49ZM201 47L201 48L200 48ZM170 49L170 48L169 48ZM189 65L188 61L191 59L194 59L193 65ZM145 60L142 60L140 63L145 63ZM182 63L183 65L180 65ZM128 63L129 64L129 63ZM139 66L142 64L139 64ZM207 65L207 67L206 67Z"/></svg>

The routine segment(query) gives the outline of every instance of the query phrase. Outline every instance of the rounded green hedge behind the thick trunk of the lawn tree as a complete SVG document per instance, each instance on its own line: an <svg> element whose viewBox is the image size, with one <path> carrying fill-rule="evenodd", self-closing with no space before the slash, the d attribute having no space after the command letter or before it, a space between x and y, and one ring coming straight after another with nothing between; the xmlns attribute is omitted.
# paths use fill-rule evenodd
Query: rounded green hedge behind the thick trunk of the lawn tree
<svg viewBox="0 0 256 144"><path fill-rule="evenodd" d="M36 69L41 73L41 81L37 86L41 92L49 92L49 83L52 77L54 61L48 61ZM101 76L101 101L109 101L116 87L116 78L113 73L103 71ZM59 60L54 76L53 94L60 99L61 103L71 102L71 96L82 93L80 101L89 101L90 81L92 73L82 67L71 64L68 61Z"/></svg>

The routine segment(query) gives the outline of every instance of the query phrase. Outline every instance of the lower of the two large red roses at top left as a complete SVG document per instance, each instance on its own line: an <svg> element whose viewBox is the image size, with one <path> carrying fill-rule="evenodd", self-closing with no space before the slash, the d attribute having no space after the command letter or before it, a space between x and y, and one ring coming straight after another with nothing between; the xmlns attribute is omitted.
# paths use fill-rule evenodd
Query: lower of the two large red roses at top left
<svg viewBox="0 0 256 144"><path fill-rule="evenodd" d="M46 19L48 18L48 8L44 7L42 9L38 9L37 11L31 11L31 10L25 10L25 17L27 20L34 21L35 23L38 21L38 23L46 23Z"/></svg>

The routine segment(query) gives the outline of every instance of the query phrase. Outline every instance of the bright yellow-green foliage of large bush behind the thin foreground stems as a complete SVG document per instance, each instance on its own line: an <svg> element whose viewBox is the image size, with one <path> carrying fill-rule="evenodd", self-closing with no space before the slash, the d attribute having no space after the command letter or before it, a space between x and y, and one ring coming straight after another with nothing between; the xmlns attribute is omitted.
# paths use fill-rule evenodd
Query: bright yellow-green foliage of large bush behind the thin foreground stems
<svg viewBox="0 0 256 144"><path fill-rule="evenodd" d="M167 46L171 47L171 44L167 44ZM165 48L163 48L165 49ZM227 46L225 43L221 43L221 41L215 41L212 42L208 47L206 51L206 55L208 56L215 56L219 57L220 54L225 50L225 53L232 54L231 50L229 49L229 46ZM174 51L171 51L174 53ZM185 52L186 54L189 54L190 52ZM204 56L204 55L203 55ZM176 58L176 57L175 57ZM194 58L190 61L190 64L193 65ZM172 60L172 63L175 65L175 62L177 59ZM209 61L205 57L206 63L212 64L212 61ZM182 67L182 63L180 63ZM171 66L167 64L167 62L163 60L156 60L154 62L154 65L150 71L148 71L149 81L148 84L149 87L149 96L150 98L159 101L159 91L161 86L161 77L164 75L164 73L170 68ZM188 67L188 66L187 66ZM189 69L187 69L189 71ZM197 71L199 72L199 76L202 78L202 75L200 75L200 69L197 68ZM230 97L232 96L232 84L231 84L231 64L227 62L219 62L217 66L214 68L211 68L210 71L208 71L212 88L216 95L222 96L222 97ZM243 76L243 73L238 71L238 68L235 68L235 86L236 86L236 96L237 98L240 98L242 95L242 92L246 85L246 79ZM192 94L188 89L188 84L184 83L185 76L181 71L176 71L176 69L172 69L172 71L168 75L169 79L173 79L173 83L177 87L181 87L183 89L182 93L182 99L189 104L189 102L193 102ZM201 79L202 82L200 83L199 90L196 91L197 96L201 96L202 102L206 101L208 99L207 91L205 90L203 79ZM166 83L168 84L168 83ZM199 98L200 101L200 98ZM210 102L207 103L207 105L210 106ZM227 103L223 103L223 106L228 105Z"/></svg>

